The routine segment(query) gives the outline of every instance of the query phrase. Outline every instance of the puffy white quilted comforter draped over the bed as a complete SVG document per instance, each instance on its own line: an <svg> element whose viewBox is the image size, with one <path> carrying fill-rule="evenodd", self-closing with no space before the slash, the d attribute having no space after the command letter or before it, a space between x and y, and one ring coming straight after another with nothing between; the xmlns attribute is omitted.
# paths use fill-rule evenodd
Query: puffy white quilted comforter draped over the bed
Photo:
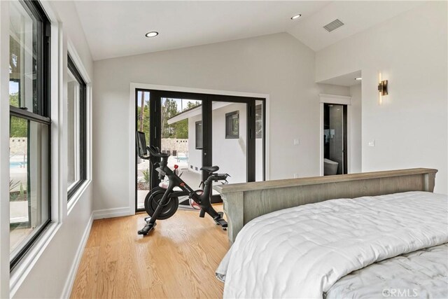
<svg viewBox="0 0 448 299"><path fill-rule="evenodd" d="M447 195L328 200L255 218L216 270L225 298L322 298L354 270L448 242Z"/></svg>

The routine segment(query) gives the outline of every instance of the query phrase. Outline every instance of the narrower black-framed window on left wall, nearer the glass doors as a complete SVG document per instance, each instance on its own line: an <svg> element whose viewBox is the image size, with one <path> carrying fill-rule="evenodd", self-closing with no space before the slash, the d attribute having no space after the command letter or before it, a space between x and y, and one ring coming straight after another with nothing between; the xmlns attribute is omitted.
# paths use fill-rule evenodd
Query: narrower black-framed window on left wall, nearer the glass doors
<svg viewBox="0 0 448 299"><path fill-rule="evenodd" d="M86 179L86 84L68 57L67 81L67 188L68 199Z"/></svg>

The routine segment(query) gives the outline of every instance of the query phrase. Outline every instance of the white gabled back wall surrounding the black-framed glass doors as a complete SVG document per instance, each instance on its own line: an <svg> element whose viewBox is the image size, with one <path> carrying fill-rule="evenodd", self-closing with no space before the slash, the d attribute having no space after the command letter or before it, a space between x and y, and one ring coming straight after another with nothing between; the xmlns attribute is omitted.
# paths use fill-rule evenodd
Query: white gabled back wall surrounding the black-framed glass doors
<svg viewBox="0 0 448 299"><path fill-rule="evenodd" d="M269 94L270 179L319 174L314 52L293 36L120 57L94 62L94 209L129 206L131 82Z"/></svg>

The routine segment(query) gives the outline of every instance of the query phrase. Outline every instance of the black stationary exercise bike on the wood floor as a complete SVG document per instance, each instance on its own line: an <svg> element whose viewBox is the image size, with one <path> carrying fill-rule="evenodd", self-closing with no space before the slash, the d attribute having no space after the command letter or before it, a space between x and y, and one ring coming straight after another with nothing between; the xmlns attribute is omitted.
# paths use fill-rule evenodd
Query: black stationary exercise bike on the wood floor
<svg viewBox="0 0 448 299"><path fill-rule="evenodd" d="M219 169L218 166L201 167L201 170L206 171L209 176L207 180L202 183L203 190L193 190L179 177L179 169L177 165L174 165L174 172L169 169L168 157L169 153L161 153L160 149L155 146L146 146L146 138L144 132L137 131L137 152L141 159L150 160L154 164L158 164L156 168L159 173L159 179L162 180L165 176L169 179L167 188L155 187L153 188L145 198L145 210L149 217L145 218L146 225L139 230L139 235L148 235L155 228L156 220L167 219L176 213L179 207L179 197L188 196L191 200L197 203L200 207L201 218L204 218L205 214L209 214L215 221L216 225L221 225L223 230L227 230L228 223L223 219L223 212L217 212L211 206L210 194L211 187L214 181L226 181L228 174L216 173ZM149 155L148 155L149 152ZM151 161L151 158L160 158L160 162ZM177 188L176 188L177 187ZM176 188L176 190L174 190Z"/></svg>

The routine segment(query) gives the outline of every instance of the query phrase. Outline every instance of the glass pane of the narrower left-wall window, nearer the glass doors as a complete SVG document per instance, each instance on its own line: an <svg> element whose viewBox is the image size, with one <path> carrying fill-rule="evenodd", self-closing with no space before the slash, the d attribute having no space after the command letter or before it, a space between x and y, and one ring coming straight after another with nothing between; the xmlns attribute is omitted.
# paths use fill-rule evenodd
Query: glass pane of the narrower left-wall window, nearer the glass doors
<svg viewBox="0 0 448 299"><path fill-rule="evenodd" d="M75 76L68 71L67 83L67 169L68 189L80 180L80 84Z"/></svg>

